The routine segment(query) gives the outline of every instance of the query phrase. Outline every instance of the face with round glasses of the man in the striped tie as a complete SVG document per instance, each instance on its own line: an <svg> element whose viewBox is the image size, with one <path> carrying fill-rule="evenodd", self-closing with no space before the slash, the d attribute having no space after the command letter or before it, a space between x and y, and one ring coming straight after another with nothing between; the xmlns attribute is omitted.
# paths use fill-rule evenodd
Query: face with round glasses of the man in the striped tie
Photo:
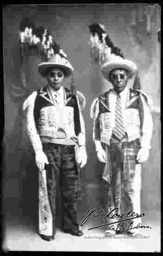
<svg viewBox="0 0 163 256"><path fill-rule="evenodd" d="M115 69L110 74L110 82L117 93L121 93L126 88L128 80L129 75L126 70Z"/></svg>

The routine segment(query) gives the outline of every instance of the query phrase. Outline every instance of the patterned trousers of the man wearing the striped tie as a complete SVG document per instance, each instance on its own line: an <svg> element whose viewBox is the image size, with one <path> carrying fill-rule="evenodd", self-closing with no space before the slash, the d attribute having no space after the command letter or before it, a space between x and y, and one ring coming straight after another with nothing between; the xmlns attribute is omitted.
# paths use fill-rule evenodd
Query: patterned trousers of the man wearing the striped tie
<svg viewBox="0 0 163 256"><path fill-rule="evenodd" d="M141 214L141 164L136 157L140 148L139 140L132 142L120 142L111 140L107 146L107 160L110 161L110 182L107 186L107 211L118 208L118 212L124 214L132 211ZM117 219L117 221L120 219ZM115 221L115 220L114 220ZM134 226L141 218L133 219ZM113 221L112 221L113 222ZM126 222L129 225L132 220Z"/></svg>

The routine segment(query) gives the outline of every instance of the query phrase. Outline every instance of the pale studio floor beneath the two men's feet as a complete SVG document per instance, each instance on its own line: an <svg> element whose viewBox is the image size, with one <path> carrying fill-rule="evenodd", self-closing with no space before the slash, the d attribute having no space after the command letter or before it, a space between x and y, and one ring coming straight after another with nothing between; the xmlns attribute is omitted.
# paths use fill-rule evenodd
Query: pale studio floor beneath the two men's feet
<svg viewBox="0 0 163 256"><path fill-rule="evenodd" d="M90 223L82 227L83 237L74 237L56 229L55 240L43 241L29 216L5 214L4 251L86 251L86 252L160 252L161 229L159 212L150 212L145 223L151 229L142 229L138 238L115 235L104 237L104 231L88 231ZM153 221L155 220L155 221Z"/></svg>

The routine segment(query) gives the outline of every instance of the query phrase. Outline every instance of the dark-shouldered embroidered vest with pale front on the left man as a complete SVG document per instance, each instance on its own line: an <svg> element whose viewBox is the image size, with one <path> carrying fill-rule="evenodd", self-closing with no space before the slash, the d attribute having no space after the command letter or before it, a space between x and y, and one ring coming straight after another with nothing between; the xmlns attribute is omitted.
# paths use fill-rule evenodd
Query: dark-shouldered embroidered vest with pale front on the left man
<svg viewBox="0 0 163 256"><path fill-rule="evenodd" d="M54 106L50 102L46 87L37 92L34 103L34 120L40 136L70 139L80 133L77 96L72 97L68 88L64 88L64 90L67 103L63 107Z"/></svg>

